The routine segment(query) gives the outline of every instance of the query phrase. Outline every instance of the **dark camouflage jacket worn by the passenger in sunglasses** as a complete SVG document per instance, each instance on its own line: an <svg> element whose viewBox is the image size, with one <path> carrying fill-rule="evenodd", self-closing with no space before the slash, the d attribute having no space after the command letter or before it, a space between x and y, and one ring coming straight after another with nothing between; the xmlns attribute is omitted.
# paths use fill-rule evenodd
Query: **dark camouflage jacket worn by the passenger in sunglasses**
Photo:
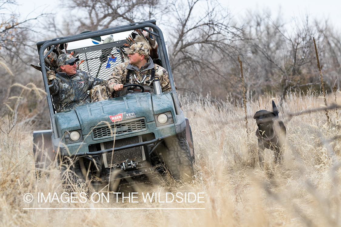
<svg viewBox="0 0 341 227"><path fill-rule="evenodd" d="M77 70L73 76L65 72L56 73L54 84L50 87L50 94L57 112L71 110L81 104L89 103L88 91L95 85L103 83L105 83L104 80L94 78L81 70Z"/></svg>

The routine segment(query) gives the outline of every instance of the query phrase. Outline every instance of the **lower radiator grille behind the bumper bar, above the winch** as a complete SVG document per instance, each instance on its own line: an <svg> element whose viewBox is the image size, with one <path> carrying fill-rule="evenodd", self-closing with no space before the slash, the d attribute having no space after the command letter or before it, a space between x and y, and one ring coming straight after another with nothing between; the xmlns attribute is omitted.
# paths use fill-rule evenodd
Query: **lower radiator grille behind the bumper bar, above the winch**
<svg viewBox="0 0 341 227"><path fill-rule="evenodd" d="M130 144L139 143L140 139L139 136L132 136L124 139L115 140L115 147L126 146ZM113 148L114 141L104 142L103 148L104 150ZM103 149L102 148L102 149ZM108 164L108 168L116 166L125 160L133 160L135 162L142 161L142 147L134 147L125 150L119 150L114 152L109 152L105 154L105 159Z"/></svg>

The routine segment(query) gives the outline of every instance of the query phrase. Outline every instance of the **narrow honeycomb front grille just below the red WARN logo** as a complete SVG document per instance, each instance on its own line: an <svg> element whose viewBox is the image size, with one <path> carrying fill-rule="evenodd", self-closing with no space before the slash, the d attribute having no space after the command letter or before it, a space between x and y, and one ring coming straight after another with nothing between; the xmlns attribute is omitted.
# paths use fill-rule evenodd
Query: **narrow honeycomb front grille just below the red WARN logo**
<svg viewBox="0 0 341 227"><path fill-rule="evenodd" d="M110 128L112 130L112 132L110 132ZM124 134L124 133L129 133L129 132L137 132L137 131L142 131L144 129L146 129L146 122L145 119L136 119L136 120L132 120L132 121L128 121L128 122L124 122L124 123L118 123L118 124L113 124L107 126L103 126L103 127L98 127L98 128L94 128L92 130L92 134L93 134L93 138L94 139L102 139L104 137L110 137L110 136L114 136L114 134L116 133L116 135L120 135L120 134Z"/></svg>

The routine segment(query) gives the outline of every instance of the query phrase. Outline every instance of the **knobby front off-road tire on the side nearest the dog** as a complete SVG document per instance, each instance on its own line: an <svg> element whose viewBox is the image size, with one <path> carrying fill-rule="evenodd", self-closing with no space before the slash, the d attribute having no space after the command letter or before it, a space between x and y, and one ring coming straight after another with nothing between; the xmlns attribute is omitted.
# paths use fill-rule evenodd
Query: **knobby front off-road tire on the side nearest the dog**
<svg viewBox="0 0 341 227"><path fill-rule="evenodd" d="M164 162L175 180L191 182L194 176L191 153L186 139L172 137L166 141Z"/></svg>

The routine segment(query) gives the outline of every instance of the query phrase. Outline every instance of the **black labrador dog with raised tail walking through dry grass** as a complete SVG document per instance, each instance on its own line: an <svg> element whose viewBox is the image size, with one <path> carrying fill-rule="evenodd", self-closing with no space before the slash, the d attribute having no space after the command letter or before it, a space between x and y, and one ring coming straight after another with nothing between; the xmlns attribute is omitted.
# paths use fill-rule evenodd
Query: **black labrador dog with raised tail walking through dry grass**
<svg viewBox="0 0 341 227"><path fill-rule="evenodd" d="M260 166L264 166L264 149L271 149L275 152L275 163L282 163L283 149L285 143L286 129L283 121L278 119L278 109L272 100L272 112L260 110L253 116L256 119L258 129L258 158Z"/></svg>

